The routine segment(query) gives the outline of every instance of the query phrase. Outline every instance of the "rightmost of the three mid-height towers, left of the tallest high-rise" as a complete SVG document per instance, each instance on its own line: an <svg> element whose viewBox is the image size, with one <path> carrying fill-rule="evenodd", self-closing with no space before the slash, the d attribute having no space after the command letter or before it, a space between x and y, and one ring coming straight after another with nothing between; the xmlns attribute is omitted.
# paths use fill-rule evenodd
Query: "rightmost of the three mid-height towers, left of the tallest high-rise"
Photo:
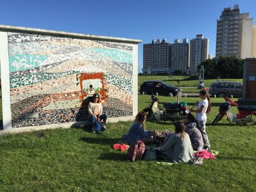
<svg viewBox="0 0 256 192"><path fill-rule="evenodd" d="M203 34L199 34L190 40L190 73L196 73L197 66L208 58L209 39L203 37Z"/></svg>

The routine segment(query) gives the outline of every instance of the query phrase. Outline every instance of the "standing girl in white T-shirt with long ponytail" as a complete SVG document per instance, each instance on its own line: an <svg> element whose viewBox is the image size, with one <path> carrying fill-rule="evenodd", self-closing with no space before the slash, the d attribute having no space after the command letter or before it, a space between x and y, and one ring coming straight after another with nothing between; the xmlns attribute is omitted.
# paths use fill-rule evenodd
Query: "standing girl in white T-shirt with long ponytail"
<svg viewBox="0 0 256 192"><path fill-rule="evenodd" d="M208 140L207 133L205 131L205 124L207 121L206 113L210 112L210 97L207 94L206 90L201 90L199 92L199 97L202 99L200 102L196 102L197 109L193 110L190 109L190 112L196 112L197 113L197 123L198 123L198 129L201 131L204 141L204 149L209 150L210 143Z"/></svg>

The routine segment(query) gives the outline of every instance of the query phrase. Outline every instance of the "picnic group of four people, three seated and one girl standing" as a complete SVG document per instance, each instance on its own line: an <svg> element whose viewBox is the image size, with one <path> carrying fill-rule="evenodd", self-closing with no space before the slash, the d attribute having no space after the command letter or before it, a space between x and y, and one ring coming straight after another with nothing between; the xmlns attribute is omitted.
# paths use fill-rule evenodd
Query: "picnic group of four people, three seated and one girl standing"
<svg viewBox="0 0 256 192"><path fill-rule="evenodd" d="M205 90L200 91L200 102L196 102L197 109L190 109L193 114L186 114L182 121L175 123L175 132L169 132L165 139L161 150L165 153L170 161L188 162L194 157L194 150L199 151L203 148L209 150L210 144L205 131L206 113L210 111L210 99ZM136 141L143 143L157 142L157 131L145 130L146 114L141 111L137 114L135 121L132 123L129 133L126 137L128 144L133 144Z"/></svg>

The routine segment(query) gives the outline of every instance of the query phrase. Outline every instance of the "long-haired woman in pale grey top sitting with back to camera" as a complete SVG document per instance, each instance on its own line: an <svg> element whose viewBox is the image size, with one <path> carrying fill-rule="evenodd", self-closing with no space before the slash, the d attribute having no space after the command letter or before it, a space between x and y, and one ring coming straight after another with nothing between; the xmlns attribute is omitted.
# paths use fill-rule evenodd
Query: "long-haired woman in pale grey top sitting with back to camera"
<svg viewBox="0 0 256 192"><path fill-rule="evenodd" d="M175 123L175 134L163 145L162 150L166 151L166 155L174 163L188 162L194 157L194 151L183 122Z"/></svg>

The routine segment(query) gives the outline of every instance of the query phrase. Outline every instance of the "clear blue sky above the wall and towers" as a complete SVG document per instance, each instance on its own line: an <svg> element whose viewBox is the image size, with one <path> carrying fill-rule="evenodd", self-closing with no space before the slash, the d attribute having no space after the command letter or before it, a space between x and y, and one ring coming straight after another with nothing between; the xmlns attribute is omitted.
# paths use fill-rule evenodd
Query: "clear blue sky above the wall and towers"
<svg viewBox="0 0 256 192"><path fill-rule="evenodd" d="M0 25L141 39L141 71L143 44L152 39L172 43L203 34L209 39L209 54L215 56L217 19L235 4L240 13L255 17L256 25L256 0L1 0Z"/></svg>

